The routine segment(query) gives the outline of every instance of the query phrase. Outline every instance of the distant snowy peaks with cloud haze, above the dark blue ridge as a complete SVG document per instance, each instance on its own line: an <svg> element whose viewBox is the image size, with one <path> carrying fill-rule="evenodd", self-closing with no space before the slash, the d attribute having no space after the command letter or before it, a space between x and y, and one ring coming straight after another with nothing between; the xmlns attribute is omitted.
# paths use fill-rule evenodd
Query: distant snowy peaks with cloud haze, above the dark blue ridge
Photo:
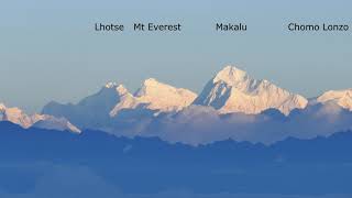
<svg viewBox="0 0 352 198"><path fill-rule="evenodd" d="M150 78L135 94L108 82L76 105L50 102L43 116L36 116L50 121L33 121L18 109L1 112L2 120L24 128L95 129L197 145L227 139L270 144L289 136L327 136L352 129L351 109L351 90L330 90L308 100L227 66L199 96Z"/></svg>

